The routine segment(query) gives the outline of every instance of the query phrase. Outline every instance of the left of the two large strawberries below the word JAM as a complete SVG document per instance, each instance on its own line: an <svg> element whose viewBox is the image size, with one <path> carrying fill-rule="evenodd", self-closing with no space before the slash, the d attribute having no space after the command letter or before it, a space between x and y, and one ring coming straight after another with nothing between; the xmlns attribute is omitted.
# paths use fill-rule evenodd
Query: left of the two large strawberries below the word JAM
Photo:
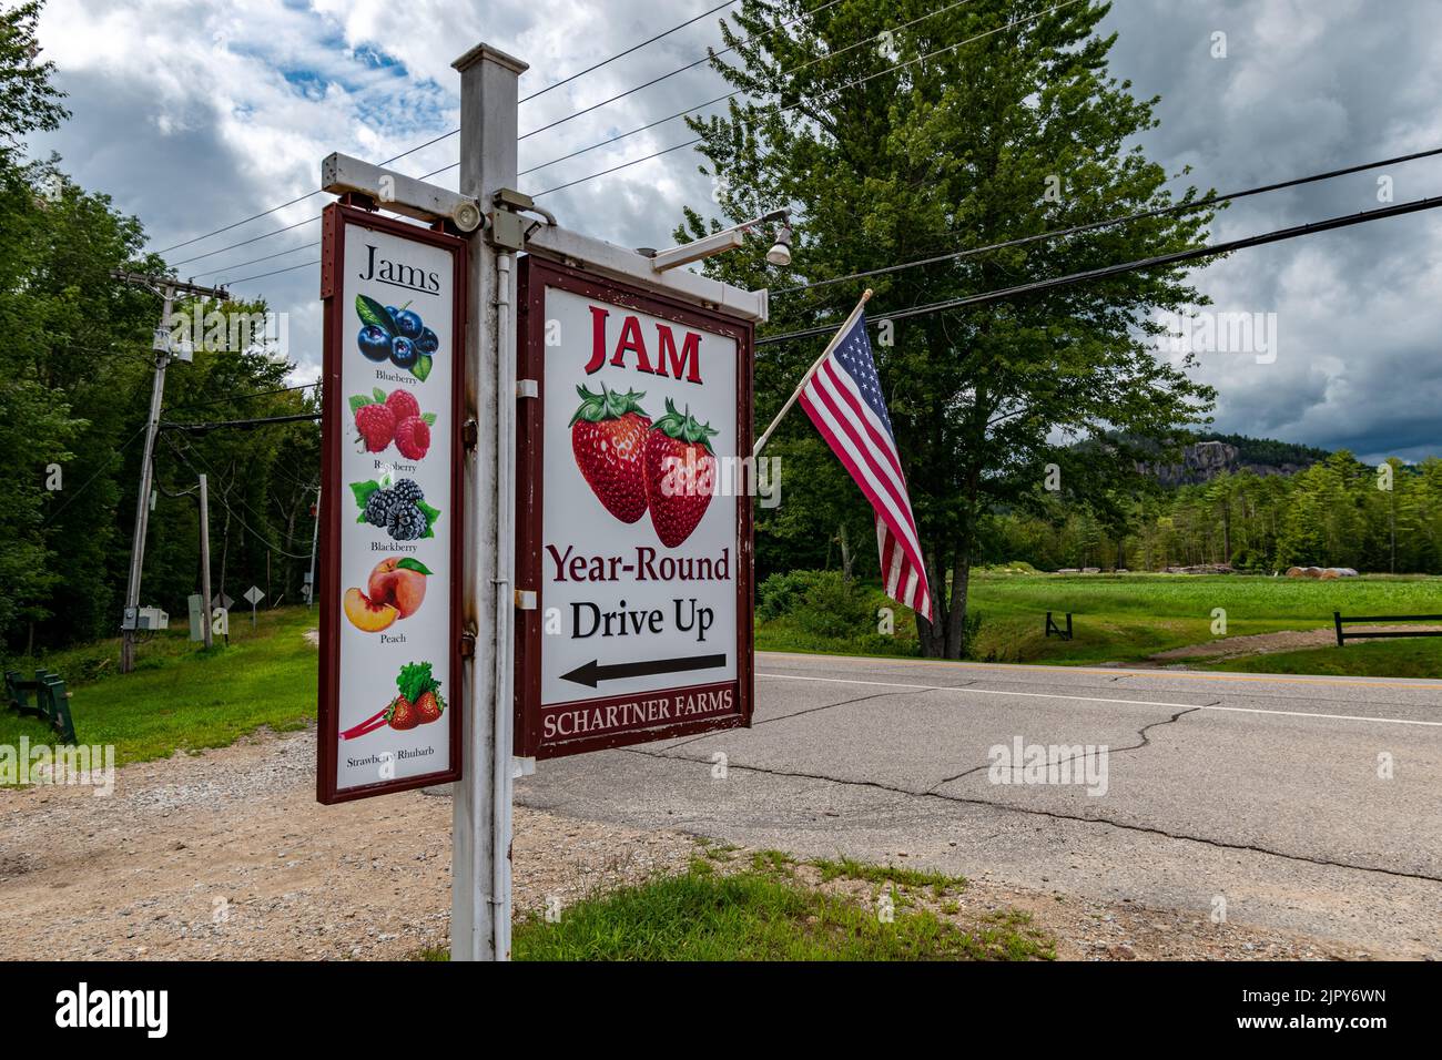
<svg viewBox="0 0 1442 1060"><path fill-rule="evenodd" d="M577 387L581 407L571 417L571 451L581 477L606 511L622 522L636 522L646 511L642 454L650 417L636 404L645 394L606 389L591 394Z"/></svg>

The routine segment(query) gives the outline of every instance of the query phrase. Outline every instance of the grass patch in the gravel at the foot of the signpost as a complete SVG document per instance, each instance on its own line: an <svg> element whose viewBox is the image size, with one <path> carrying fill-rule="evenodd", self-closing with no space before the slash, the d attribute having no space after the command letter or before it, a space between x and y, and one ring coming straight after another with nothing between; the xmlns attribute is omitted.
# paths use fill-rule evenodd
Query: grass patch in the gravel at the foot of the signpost
<svg viewBox="0 0 1442 1060"><path fill-rule="evenodd" d="M557 923L531 916L516 924L512 953L518 960L1031 960L1054 956L1050 939L1031 926L1025 913L1008 910L962 924L900 890L894 870L846 864L861 878L895 881L890 923L878 916L874 904L828 891L820 881L797 878L797 862L789 855L763 851L738 871L718 871L712 862L696 858L679 875L658 877L575 903ZM443 959L437 953L421 956Z"/></svg>

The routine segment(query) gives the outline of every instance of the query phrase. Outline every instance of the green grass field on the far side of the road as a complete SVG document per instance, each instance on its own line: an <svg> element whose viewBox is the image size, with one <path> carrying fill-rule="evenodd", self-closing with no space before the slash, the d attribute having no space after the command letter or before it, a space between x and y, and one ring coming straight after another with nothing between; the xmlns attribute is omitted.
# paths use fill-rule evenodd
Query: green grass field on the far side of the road
<svg viewBox="0 0 1442 1060"><path fill-rule="evenodd" d="M972 575L969 607L982 614L973 658L988 662L1032 662L1084 666L1141 662L1172 648L1208 643L1213 611L1226 611L1226 636L1308 630L1330 626L1344 614L1439 614L1442 578L1367 575L1319 581L1265 575L1184 574L999 574ZM885 603L875 590L878 606ZM894 606L894 604L893 604ZM895 635L858 629L848 637L820 637L784 616L757 624L760 650L836 655L917 656L911 613L897 607ZM1073 613L1074 639L1045 636L1045 613L1063 624ZM1229 661L1226 669L1257 672L1358 673L1380 676L1442 675L1442 639L1407 648L1348 645ZM1355 650L1367 648L1366 652ZM1204 666L1203 661L1188 665ZM1295 669L1293 669L1295 668Z"/></svg>

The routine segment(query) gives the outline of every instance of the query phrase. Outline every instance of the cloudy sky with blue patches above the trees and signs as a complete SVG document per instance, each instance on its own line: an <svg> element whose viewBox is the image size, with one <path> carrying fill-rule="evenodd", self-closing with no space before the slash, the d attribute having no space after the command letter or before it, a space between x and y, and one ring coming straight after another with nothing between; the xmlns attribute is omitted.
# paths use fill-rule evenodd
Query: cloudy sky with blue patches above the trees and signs
<svg viewBox="0 0 1442 1060"><path fill-rule="evenodd" d="M166 248L306 195L329 151L382 160L454 128L450 63L474 42L531 63L526 95L718 3L49 0L40 42L74 117L32 150L59 151L84 187L112 195ZM1191 166L1200 186L1236 190L1442 146L1435 16L1435 0L1116 0L1105 26L1119 33L1113 74L1161 97L1151 156L1168 172ZM718 39L717 17L525 102L522 133L699 58ZM704 66L678 75L525 138L521 169L724 91ZM521 183L541 192L688 138L671 121ZM448 137L395 167L420 176L456 151ZM681 205L709 199L696 160L679 150L542 202L571 228L663 245ZM1243 200L1214 238L1373 209L1383 175L1396 202L1442 193L1442 159L1412 162ZM454 186L454 170L434 179ZM311 196L166 254L180 275L288 312L298 381L319 372L320 333L319 270L307 264L319 224L301 222L324 202ZM1198 376L1220 389L1217 427L1364 459L1442 454L1439 251L1442 216L1423 212L1198 271L1214 310L1276 314L1275 348L1260 356L1203 355ZM274 270L290 271L248 278Z"/></svg>

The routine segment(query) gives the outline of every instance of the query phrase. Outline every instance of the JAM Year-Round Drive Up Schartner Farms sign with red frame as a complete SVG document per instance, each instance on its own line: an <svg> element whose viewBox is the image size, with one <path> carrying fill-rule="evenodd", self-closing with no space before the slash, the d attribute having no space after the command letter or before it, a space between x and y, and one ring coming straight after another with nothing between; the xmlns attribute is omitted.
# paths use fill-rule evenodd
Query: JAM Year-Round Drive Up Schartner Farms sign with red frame
<svg viewBox="0 0 1442 1060"><path fill-rule="evenodd" d="M521 278L516 751L750 724L750 324Z"/></svg>

